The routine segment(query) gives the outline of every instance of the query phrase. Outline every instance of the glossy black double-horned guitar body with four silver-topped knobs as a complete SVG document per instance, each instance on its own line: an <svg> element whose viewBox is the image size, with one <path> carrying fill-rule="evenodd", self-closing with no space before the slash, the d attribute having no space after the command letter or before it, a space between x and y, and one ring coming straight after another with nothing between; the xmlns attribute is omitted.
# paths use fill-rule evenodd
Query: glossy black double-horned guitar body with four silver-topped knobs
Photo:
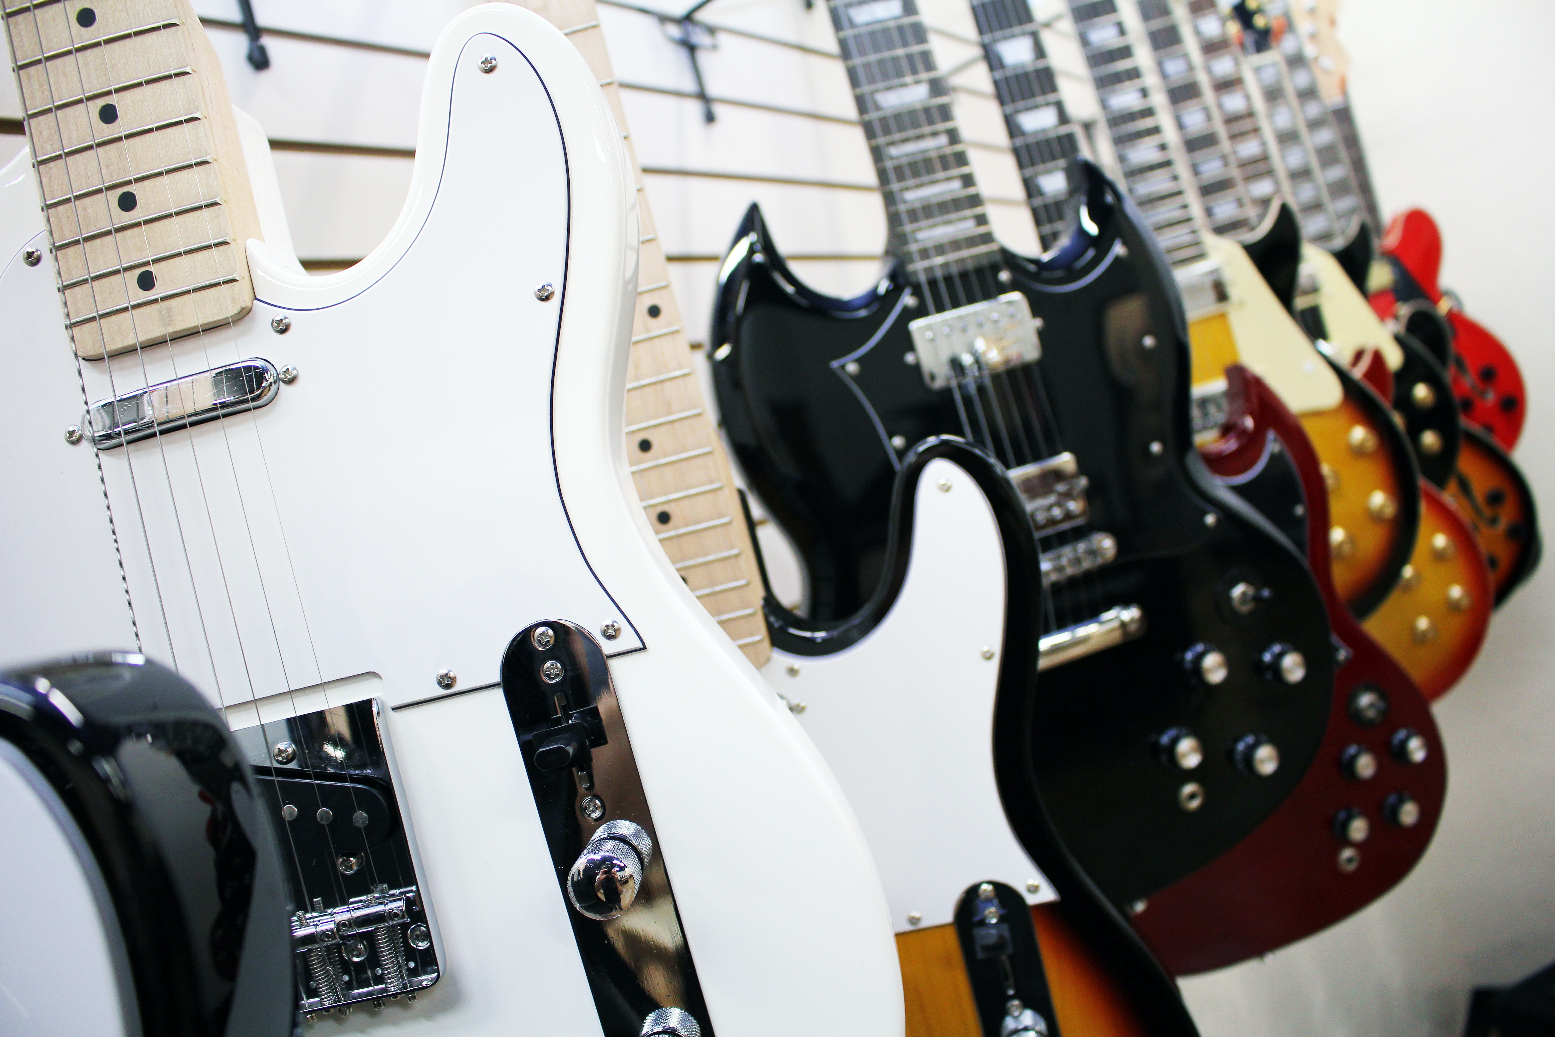
<svg viewBox="0 0 1555 1037"><path fill-rule="evenodd" d="M857 299L824 297L787 269L753 207L723 267L714 382L750 485L809 569L805 620L768 608L774 642L796 653L829 651L804 628L871 597L913 443L964 435L1008 466L1076 456L1090 522L1042 546L1106 530L1120 555L1051 588L1043 628L1137 605L1144 631L1042 673L1033 770L1079 866L1130 903L1230 849L1294 787L1326 725L1333 645L1302 557L1194 451L1186 322L1143 218L1090 163L1070 182L1084 185L1078 225L1093 232L1037 261L1005 252L950 286L952 305L1023 292L1042 320L1040 362L930 390L907 326L927 311L925 288L897 267ZM1266 662L1283 645L1305 658L1294 684ZM1194 669L1210 650L1225 656L1222 683ZM1171 751L1182 734L1204 754L1186 770ZM1250 773L1258 738L1280 754L1269 776Z"/></svg>

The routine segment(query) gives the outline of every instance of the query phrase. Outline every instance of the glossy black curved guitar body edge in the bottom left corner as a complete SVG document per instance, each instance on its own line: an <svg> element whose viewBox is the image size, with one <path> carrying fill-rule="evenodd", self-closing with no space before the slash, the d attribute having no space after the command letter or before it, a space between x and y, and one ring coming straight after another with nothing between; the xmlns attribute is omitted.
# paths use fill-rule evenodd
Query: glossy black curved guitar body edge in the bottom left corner
<svg viewBox="0 0 1555 1037"><path fill-rule="evenodd" d="M17 667L0 673L0 738L50 780L96 858L142 1032L289 1035L275 830L205 698L137 653Z"/></svg>

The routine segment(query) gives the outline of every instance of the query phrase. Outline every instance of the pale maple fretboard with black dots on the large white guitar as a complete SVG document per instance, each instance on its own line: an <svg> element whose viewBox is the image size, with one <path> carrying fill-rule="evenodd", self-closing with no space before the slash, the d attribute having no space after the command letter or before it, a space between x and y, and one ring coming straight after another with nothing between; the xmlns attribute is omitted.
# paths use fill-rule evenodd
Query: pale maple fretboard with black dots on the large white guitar
<svg viewBox="0 0 1555 1037"><path fill-rule="evenodd" d="M258 216L187 0L36 0L6 6L5 22L76 353L247 312L243 243Z"/></svg>

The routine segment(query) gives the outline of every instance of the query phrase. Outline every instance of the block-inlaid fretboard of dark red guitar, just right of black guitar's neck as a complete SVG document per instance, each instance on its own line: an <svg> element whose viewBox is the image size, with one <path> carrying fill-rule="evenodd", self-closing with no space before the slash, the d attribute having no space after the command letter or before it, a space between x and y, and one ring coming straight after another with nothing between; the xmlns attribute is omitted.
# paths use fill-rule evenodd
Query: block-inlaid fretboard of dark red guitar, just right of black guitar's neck
<svg viewBox="0 0 1555 1037"><path fill-rule="evenodd" d="M972 16L1037 222L1037 239L1050 249L1068 230L1065 166L1079 154L1075 123L1059 96L1031 5L1026 0L972 0Z"/></svg>

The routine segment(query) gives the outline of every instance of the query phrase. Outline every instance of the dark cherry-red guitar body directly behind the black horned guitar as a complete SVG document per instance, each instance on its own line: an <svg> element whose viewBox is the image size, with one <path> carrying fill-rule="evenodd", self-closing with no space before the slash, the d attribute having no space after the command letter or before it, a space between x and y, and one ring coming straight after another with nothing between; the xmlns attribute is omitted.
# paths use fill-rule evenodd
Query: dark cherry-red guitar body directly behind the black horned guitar
<svg viewBox="0 0 1555 1037"><path fill-rule="evenodd" d="M1350 658L1336 673L1322 748L1289 799L1235 849L1157 892L1132 917L1162 965L1179 976L1266 955L1381 897L1424 854L1446 796L1441 737L1424 697L1334 589L1317 452L1264 382L1241 367L1227 378L1235 420L1205 462L1218 474L1239 476L1270 432L1283 443L1306 498L1308 561ZM1236 414L1238 403L1244 414ZM1418 759L1417 743L1413 762L1404 746L1410 734L1424 748Z"/></svg>

